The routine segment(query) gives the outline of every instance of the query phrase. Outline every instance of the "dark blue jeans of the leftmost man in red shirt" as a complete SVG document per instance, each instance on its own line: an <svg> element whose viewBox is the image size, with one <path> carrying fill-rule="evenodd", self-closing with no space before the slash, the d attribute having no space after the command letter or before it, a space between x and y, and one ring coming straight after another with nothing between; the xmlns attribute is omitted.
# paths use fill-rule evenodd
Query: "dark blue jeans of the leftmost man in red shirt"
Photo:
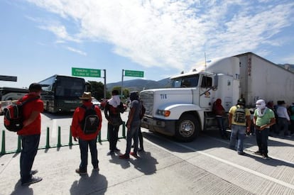
<svg viewBox="0 0 294 195"><path fill-rule="evenodd" d="M33 161L38 152L40 143L40 134L38 135L20 135L21 136L21 183L29 182L32 175L31 169Z"/></svg>

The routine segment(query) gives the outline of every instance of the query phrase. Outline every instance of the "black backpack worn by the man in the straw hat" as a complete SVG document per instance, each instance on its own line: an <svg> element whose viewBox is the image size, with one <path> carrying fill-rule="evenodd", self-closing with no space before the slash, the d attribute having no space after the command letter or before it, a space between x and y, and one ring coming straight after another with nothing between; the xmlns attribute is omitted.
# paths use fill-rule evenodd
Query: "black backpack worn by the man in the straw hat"
<svg viewBox="0 0 294 195"><path fill-rule="evenodd" d="M85 115L83 120L80 122L80 126L82 131L85 134L92 134L97 132L97 128L99 127L99 117L95 111L95 106L92 105L91 107L87 108L85 105L82 105L81 108L84 108Z"/></svg>

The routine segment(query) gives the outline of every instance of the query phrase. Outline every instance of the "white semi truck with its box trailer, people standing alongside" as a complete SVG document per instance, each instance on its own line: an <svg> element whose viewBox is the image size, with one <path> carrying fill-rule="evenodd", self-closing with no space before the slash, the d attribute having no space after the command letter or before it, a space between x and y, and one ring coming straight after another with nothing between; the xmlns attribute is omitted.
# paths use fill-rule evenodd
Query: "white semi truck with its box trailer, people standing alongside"
<svg viewBox="0 0 294 195"><path fill-rule="evenodd" d="M173 88L141 91L141 126L185 142L215 126L212 104L218 98L226 111L240 97L248 106L257 99L294 101L294 73L252 52L208 60L170 79Z"/></svg>

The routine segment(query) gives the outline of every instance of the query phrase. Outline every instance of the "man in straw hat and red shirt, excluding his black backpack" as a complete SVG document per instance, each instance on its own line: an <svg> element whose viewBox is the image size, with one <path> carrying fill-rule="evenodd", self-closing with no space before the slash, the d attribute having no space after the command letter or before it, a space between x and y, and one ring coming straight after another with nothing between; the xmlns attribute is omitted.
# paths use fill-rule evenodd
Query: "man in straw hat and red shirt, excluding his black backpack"
<svg viewBox="0 0 294 195"><path fill-rule="evenodd" d="M102 126L102 114L98 106L94 106L92 104L92 96L91 92L84 92L82 94L82 97L80 97L82 100L82 106L79 106L75 108L75 113L73 114L72 117L72 126L71 126L71 132L72 132L72 137L74 138L75 141L77 139L79 140L80 144L80 155L81 155L81 163L80 163L80 168L76 169L75 172L78 174L87 174L87 164L88 164L88 147L91 152L91 157L92 157L92 165L93 165L93 170L94 171L99 171L98 167L98 152L97 152L97 135L99 131L101 130ZM97 130L94 133L85 133L85 129L82 129L82 121L85 118L85 112L86 109L91 108L94 106L94 111L96 115L98 116L98 125L97 125ZM84 108L83 108L84 107Z"/></svg>

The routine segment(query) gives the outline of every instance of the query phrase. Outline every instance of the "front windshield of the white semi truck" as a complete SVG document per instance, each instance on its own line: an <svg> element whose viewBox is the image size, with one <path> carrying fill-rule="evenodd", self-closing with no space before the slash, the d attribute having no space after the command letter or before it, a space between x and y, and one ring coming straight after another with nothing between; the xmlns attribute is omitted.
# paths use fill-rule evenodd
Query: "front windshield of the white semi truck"
<svg viewBox="0 0 294 195"><path fill-rule="evenodd" d="M199 74L194 74L186 77L178 77L172 80L173 88L182 87L197 87Z"/></svg>

